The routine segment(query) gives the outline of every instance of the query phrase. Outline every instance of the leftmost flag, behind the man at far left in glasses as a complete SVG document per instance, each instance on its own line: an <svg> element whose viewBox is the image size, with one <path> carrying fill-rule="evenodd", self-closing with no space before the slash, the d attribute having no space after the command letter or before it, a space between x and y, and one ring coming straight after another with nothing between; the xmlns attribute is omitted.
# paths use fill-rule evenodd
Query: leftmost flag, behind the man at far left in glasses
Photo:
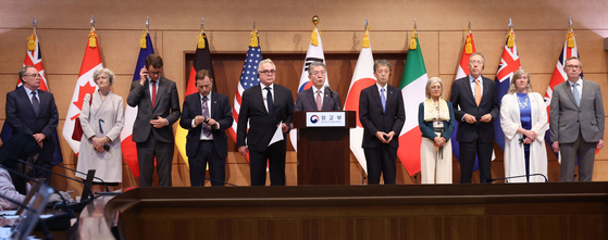
<svg viewBox="0 0 608 240"><path fill-rule="evenodd" d="M40 53L40 45L38 45L38 35L36 35L36 30L34 30L34 33L32 34L32 36L29 36L29 38L27 38L32 43L34 43L34 46L32 46L33 48L29 48L27 50L27 52L25 53L25 60L23 61L23 66L34 66L36 67L36 70L38 70L39 74L40 74L40 90L44 91L49 91L49 84L47 81L47 75L45 74L45 66L42 66L42 54ZM33 50L30 50L33 49ZM21 86L23 86L23 83L21 83L21 79L17 78L17 85L15 87L15 89L20 88ZM0 132L0 138L3 141L9 140L9 138L11 137L13 132L13 129L11 128L11 126L9 126L9 124L7 122L4 122L4 125L2 126L2 131ZM54 153L53 153L53 163L54 164L59 164L61 162L63 162L63 155L61 153L61 146L59 143L59 138L57 135L57 129L53 131L53 140L55 142L54 144Z"/></svg>

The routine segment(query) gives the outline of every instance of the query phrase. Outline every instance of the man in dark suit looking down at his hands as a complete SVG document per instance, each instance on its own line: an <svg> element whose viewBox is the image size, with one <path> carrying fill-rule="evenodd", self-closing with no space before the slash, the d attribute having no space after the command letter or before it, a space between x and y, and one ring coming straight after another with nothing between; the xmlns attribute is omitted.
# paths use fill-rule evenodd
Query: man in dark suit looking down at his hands
<svg viewBox="0 0 608 240"><path fill-rule="evenodd" d="M186 96L179 126L188 129L186 155L190 165L190 185L203 186L207 163L212 186L224 186L228 138L225 130L232 127L231 103L225 94L212 92L213 78L209 71L196 75L197 93Z"/></svg>

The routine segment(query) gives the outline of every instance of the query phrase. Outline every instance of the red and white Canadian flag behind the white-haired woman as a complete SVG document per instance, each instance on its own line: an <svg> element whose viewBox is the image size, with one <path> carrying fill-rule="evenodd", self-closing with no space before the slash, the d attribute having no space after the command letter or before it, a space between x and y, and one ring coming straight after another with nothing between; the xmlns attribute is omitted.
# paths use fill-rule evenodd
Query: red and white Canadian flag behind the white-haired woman
<svg viewBox="0 0 608 240"><path fill-rule="evenodd" d="M97 90L97 85L92 80L92 72L98 67L103 67L103 64L101 63L97 34L95 33L95 28L91 27L87 49L85 50L85 58L83 59L80 73L78 74L78 80L76 81L76 87L74 87L74 94L72 94L72 101L70 101L67 115L63 124L63 138L76 154L78 154L80 142L72 140L74 124L76 117L80 115L80 111L83 110L85 96Z"/></svg>

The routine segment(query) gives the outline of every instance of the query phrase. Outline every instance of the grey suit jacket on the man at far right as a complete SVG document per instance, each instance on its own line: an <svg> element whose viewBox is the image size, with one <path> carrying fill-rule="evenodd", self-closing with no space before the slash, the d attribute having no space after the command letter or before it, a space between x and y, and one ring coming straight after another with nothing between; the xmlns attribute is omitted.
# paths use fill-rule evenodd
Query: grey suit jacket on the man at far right
<svg viewBox="0 0 608 240"><path fill-rule="evenodd" d="M581 106L569 86L569 81L554 88L549 109L549 129L551 141L572 143L579 138L579 129L586 142L598 142L604 139L604 103L599 85L581 79Z"/></svg>

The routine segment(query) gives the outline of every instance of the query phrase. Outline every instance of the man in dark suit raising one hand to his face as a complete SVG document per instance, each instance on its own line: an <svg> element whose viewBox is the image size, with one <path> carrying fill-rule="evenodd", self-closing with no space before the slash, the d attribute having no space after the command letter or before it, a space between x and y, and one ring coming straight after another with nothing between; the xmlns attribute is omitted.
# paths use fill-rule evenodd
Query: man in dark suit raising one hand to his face
<svg viewBox="0 0 608 240"><path fill-rule="evenodd" d="M139 187L152 187L154 156L159 186L171 187L173 162L173 125L179 119L179 98L175 83L162 77L162 59L150 54L139 72L139 81L133 81L127 104L136 108L133 141L139 160Z"/></svg>

